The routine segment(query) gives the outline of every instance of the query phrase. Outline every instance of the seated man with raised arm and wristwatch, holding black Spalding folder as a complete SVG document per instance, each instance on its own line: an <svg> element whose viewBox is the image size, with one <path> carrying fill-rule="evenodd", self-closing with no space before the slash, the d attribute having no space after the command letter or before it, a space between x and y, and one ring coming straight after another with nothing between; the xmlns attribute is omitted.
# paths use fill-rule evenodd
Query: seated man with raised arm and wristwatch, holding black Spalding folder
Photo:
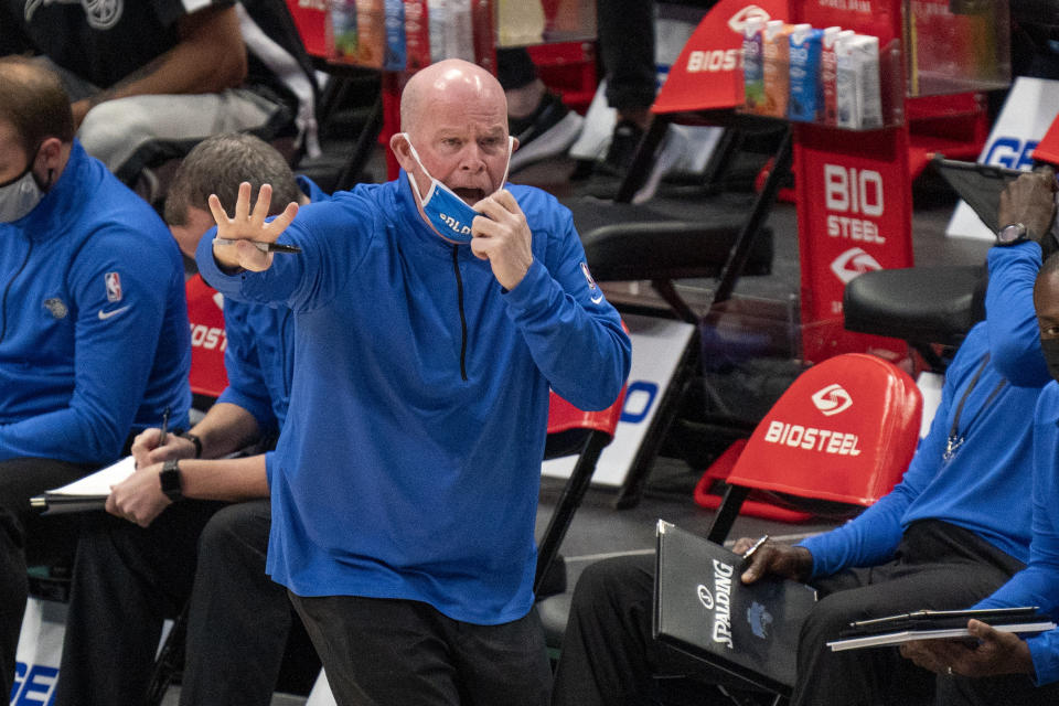
<svg viewBox="0 0 1059 706"><path fill-rule="evenodd" d="M1001 222L1025 224L1031 237L991 249L986 320L949 366L930 431L901 482L832 532L798 546L766 543L742 575L745 582L767 573L807 580L821 595L799 638L796 706L918 703L933 677L896 650L832 652L826 642L854 620L965 607L1029 559L1029 518L1014 509L1030 493L1026 419L1049 379L1033 287L1038 240L1050 243L1053 185L1046 169L1002 200ZM742 538L735 550L751 543ZM553 704L639 704L652 676L677 664L651 638L653 560L622 557L581 575Z"/></svg>

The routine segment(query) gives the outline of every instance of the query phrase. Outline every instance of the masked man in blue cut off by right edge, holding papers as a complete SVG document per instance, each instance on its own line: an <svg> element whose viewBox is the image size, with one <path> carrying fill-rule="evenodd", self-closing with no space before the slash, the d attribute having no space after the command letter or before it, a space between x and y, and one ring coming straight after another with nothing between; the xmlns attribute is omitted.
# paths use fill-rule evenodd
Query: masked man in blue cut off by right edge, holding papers
<svg viewBox="0 0 1059 706"><path fill-rule="evenodd" d="M1059 381L1059 256L1045 261L1034 289L1040 345ZM1059 618L1059 384L1048 383L1034 415L1034 493L1029 566L974 608L1037 606ZM1059 630L1023 639L972 620L976 644L911 642L901 653L939 673L938 706L1050 706L1059 703Z"/></svg>

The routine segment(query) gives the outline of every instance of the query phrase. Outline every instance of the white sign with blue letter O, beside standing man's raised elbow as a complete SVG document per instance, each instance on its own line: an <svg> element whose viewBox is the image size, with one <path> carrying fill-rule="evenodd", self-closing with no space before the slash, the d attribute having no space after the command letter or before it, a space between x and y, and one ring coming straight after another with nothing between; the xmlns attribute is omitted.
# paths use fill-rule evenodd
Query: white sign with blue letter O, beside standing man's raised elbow
<svg viewBox="0 0 1059 706"><path fill-rule="evenodd" d="M629 474L632 460L651 428L662 397L668 389L691 341L695 327L683 321L625 314L622 317L632 339L632 367L625 392L621 420L614 439L603 449L596 464L592 482L620 486ZM569 478L576 456L545 461L541 472L555 478Z"/></svg>

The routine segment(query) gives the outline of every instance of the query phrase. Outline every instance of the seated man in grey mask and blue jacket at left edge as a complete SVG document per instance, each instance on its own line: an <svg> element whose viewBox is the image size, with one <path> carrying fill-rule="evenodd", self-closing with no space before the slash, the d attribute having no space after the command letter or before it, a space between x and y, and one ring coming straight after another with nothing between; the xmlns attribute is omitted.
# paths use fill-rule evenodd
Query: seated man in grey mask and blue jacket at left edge
<svg viewBox="0 0 1059 706"><path fill-rule="evenodd" d="M30 498L186 427L180 253L148 204L74 139L57 78L0 61L0 693L10 691L26 554L69 527ZM31 526L30 526L31 525ZM65 530L60 534L55 530ZM23 548L23 544L25 547ZM68 546L72 549L72 546Z"/></svg>

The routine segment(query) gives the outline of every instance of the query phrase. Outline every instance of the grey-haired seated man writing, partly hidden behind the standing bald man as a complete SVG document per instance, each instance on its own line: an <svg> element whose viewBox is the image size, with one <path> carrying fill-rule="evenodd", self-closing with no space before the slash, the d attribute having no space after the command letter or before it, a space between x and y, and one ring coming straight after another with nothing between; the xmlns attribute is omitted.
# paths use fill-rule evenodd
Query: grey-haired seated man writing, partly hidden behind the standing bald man
<svg viewBox="0 0 1059 706"><path fill-rule="evenodd" d="M188 154L167 199L181 249L193 254L213 223L208 195L234 200L242 181L271 184L281 203L327 199L260 139L208 138ZM138 470L107 503L120 520L103 516L81 534L57 706L141 703L162 621L185 605L180 703L271 702L292 610L265 574L270 453L224 457L264 451L282 428L295 323L287 308L237 301L224 303L224 319L227 388L190 432L161 446L159 429L140 434L132 445Z"/></svg>

